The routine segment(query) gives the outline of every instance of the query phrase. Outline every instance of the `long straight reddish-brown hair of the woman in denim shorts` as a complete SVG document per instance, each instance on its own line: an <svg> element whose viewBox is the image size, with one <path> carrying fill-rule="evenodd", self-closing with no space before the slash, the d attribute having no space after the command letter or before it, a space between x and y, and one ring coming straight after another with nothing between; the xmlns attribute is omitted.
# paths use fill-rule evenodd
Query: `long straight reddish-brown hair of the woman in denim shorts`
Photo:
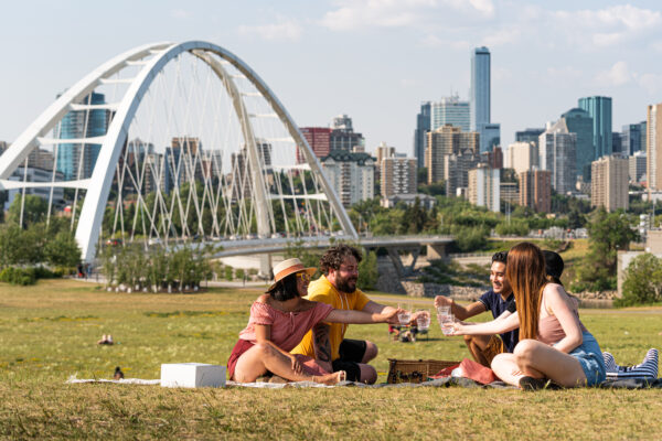
<svg viewBox="0 0 662 441"><path fill-rule="evenodd" d="M543 288L547 284L545 258L535 245L523 241L508 252L508 278L520 316L520 338L537 338Z"/></svg>

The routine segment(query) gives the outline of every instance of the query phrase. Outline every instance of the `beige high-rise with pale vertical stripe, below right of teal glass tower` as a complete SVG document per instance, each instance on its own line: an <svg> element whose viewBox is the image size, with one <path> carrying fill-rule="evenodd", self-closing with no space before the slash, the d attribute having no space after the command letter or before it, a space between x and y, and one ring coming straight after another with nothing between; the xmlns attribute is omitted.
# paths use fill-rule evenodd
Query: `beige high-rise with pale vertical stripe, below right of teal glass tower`
<svg viewBox="0 0 662 441"><path fill-rule="evenodd" d="M628 209L629 162L617 155L602 157L591 163L590 205L608 212Z"/></svg>

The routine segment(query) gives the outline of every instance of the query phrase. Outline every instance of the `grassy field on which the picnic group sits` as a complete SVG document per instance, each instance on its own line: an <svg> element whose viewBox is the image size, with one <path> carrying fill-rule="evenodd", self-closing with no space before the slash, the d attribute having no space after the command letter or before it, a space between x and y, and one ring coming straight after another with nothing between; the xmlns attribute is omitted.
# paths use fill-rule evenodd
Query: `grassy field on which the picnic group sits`
<svg viewBox="0 0 662 441"><path fill-rule="evenodd" d="M383 295L383 294L380 294ZM0 284L0 437L184 439L660 439L660 390L522 392L463 388L163 389L66 379L159 378L161 363L225 364L256 290L117 294L71 280ZM398 299L391 297L395 304ZM415 306L418 304L414 303ZM662 310L583 310L621 364L662 347ZM483 314L481 320L487 320ZM114 346L98 346L102 334ZM351 337L387 358L461 359L459 338L391 342L386 325Z"/></svg>

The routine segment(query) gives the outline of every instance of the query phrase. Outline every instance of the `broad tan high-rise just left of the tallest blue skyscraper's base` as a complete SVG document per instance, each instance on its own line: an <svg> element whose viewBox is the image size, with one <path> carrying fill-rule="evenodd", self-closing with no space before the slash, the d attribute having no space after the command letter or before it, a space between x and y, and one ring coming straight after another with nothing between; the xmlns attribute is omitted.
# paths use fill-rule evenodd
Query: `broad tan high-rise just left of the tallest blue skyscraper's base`
<svg viewBox="0 0 662 441"><path fill-rule="evenodd" d="M478 133L463 132L459 127L442 126L428 132L425 151L425 166L428 172L428 184L444 180L444 155L459 153L462 150L478 150Z"/></svg>

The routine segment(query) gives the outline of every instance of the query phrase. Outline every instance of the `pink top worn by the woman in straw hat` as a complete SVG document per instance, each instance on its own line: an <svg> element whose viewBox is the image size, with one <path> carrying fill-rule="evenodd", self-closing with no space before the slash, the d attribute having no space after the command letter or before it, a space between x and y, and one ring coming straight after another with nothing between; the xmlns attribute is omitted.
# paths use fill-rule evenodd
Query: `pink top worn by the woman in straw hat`
<svg viewBox="0 0 662 441"><path fill-rule="evenodd" d="M308 311L282 312L267 303L254 302L250 306L248 325L239 333L239 338L255 343L255 325L268 324L271 326L271 342L281 349L290 352L308 331L333 311L333 308L327 303L316 303L314 308Z"/></svg>

